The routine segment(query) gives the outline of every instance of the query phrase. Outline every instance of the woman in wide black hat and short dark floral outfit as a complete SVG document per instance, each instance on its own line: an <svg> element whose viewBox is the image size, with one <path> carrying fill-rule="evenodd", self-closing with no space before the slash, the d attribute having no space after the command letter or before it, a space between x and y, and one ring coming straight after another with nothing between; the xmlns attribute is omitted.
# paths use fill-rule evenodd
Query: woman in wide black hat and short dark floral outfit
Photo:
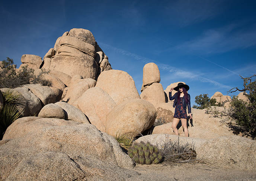
<svg viewBox="0 0 256 181"><path fill-rule="evenodd" d="M172 91L176 90L172 96ZM190 105L190 95L187 93L189 86L183 83L179 83L177 87L171 88L169 92L170 100L174 100L173 107L175 107L175 113L173 115L172 128L176 135L179 135L177 125L181 120L182 127L184 129L185 136L188 137L188 127L186 108L188 106L189 119L192 119L191 115L191 105Z"/></svg>

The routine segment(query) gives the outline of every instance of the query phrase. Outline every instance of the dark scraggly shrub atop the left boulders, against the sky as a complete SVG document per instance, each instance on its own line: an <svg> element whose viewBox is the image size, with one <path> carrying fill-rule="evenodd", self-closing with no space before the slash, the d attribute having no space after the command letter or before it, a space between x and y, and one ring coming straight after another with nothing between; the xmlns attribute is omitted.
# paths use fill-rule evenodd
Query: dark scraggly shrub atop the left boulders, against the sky
<svg viewBox="0 0 256 181"><path fill-rule="evenodd" d="M0 88L16 88L24 84L51 86L51 81L43 78L43 75L47 73L49 72L42 69L38 75L35 75L34 70L28 66L23 66L19 71L16 71L13 59L7 57L0 65Z"/></svg>

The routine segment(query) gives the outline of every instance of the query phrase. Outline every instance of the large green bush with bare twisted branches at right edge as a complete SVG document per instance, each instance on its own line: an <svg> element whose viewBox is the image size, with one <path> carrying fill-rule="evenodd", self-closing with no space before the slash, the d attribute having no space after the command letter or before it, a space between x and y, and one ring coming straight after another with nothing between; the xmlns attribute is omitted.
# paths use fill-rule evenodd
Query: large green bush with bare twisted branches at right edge
<svg viewBox="0 0 256 181"><path fill-rule="evenodd" d="M229 108L225 108L223 111L219 111L213 108L209 108L206 113L214 115L214 117L220 117L222 123L228 121L228 125L232 125L232 129L236 133L243 133L249 135L252 138L256 137L256 75L251 77L242 77L244 88L239 89L237 87L229 90L229 93L236 91L243 92L248 98L248 102L239 100L236 96L232 97ZM233 122L236 125L233 125ZM238 129L239 128L239 129Z"/></svg>

